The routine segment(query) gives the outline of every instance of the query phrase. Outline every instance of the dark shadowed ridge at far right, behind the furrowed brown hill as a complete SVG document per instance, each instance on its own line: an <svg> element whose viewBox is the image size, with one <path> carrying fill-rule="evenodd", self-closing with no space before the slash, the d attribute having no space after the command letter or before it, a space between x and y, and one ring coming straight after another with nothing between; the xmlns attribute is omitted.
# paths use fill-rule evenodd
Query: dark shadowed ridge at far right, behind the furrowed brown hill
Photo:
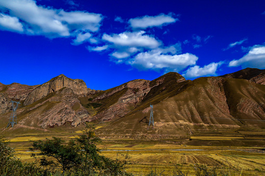
<svg viewBox="0 0 265 176"><path fill-rule="evenodd" d="M256 84L265 85L265 69L245 68L234 73L225 74L224 78L237 78L250 80Z"/></svg>

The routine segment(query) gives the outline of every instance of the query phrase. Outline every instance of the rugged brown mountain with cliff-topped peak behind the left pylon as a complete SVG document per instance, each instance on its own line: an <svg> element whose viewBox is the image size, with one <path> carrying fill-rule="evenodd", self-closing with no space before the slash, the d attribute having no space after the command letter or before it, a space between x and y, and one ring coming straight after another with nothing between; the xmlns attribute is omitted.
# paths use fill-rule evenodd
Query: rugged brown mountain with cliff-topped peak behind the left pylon
<svg viewBox="0 0 265 176"><path fill-rule="evenodd" d="M81 106L79 96L97 92L86 88L82 80L73 80L64 75L42 85L30 87L13 83L7 86L0 84L0 88L0 110L3 109L0 118L4 122L0 128L5 128L11 115L11 99L22 103L17 110L20 127L45 129L67 123L76 127L90 118L87 110Z"/></svg>

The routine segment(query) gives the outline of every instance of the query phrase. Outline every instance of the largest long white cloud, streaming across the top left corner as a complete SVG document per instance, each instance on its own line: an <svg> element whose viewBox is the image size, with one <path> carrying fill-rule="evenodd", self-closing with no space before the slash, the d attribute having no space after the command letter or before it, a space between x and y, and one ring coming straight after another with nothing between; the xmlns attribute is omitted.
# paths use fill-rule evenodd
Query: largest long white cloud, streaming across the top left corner
<svg viewBox="0 0 265 176"><path fill-rule="evenodd" d="M38 6L34 0L0 0L0 10L22 21L26 34L49 38L70 37L77 31L96 32L103 19L101 14Z"/></svg>

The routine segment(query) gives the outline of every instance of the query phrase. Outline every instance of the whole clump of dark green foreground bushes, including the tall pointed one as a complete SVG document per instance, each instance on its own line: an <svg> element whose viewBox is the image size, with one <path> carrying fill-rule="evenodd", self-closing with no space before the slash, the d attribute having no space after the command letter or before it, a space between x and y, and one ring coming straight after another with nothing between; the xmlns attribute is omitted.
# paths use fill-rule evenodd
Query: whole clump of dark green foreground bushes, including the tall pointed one
<svg viewBox="0 0 265 176"><path fill-rule="evenodd" d="M67 145L56 137L34 141L30 150L39 150L40 153L32 156L41 155L41 166L61 168L64 176L128 175L124 170L126 160L112 160L100 155L96 144L101 139L95 135L94 129L93 125L86 125L84 132Z"/></svg>

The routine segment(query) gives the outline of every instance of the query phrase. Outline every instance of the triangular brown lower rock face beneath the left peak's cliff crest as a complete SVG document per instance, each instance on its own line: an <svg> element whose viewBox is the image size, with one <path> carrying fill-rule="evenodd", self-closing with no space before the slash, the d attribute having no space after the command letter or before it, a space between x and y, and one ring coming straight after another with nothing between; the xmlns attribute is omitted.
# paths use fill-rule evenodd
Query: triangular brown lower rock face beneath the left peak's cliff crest
<svg viewBox="0 0 265 176"><path fill-rule="evenodd" d="M41 100L18 110L19 117L23 118L19 124L45 129L69 122L76 127L89 119L88 112L71 88L62 88Z"/></svg>

